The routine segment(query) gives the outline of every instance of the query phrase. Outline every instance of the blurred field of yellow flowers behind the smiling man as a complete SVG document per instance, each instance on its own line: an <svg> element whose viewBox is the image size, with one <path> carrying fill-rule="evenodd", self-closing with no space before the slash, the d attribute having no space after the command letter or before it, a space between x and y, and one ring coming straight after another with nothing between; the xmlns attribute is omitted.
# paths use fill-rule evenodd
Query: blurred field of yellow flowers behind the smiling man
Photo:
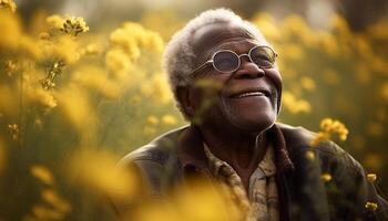
<svg viewBox="0 0 388 221"><path fill-rule="evenodd" d="M186 124L161 67L166 42L217 7L279 54L278 122L344 123L347 139L331 138L386 197L387 1L0 0L0 220L110 220L100 192L136 192L116 161Z"/></svg>

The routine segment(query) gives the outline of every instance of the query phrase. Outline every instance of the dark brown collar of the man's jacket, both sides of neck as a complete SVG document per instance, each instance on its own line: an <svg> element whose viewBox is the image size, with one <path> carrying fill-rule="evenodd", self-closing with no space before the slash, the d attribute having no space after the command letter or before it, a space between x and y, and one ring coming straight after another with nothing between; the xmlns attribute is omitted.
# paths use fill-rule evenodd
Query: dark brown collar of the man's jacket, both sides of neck
<svg viewBox="0 0 388 221"><path fill-rule="evenodd" d="M277 171L286 172L293 170L294 165L288 157L286 141L278 125L274 124L265 135L273 144ZM177 157L184 171L197 169L210 171L202 136L197 127L191 125L183 131L177 144Z"/></svg>

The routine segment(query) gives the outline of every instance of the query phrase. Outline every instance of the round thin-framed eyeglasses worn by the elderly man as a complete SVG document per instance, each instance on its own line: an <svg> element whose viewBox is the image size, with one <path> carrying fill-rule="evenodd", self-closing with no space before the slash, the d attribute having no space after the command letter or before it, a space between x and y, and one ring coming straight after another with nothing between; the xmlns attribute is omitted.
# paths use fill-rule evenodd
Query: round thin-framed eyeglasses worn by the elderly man
<svg viewBox="0 0 388 221"><path fill-rule="evenodd" d="M249 61L261 69L269 69L275 64L277 54L273 49L265 45L256 45L249 50L247 54L236 54L231 50L219 50L215 52L211 60L206 61L192 72L195 75L203 66L212 63L213 67L221 73L233 73L238 70L242 64L241 57L248 56Z"/></svg>

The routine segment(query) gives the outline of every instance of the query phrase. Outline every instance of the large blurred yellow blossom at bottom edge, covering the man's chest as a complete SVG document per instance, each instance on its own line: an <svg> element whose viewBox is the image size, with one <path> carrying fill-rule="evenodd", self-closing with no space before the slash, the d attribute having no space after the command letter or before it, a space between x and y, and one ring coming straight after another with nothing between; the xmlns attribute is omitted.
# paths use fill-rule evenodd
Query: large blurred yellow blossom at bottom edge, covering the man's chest
<svg viewBox="0 0 388 221"><path fill-rule="evenodd" d="M224 191L223 186L194 181L190 187L176 190L173 203L144 204L127 218L140 221L244 220L243 208L226 197Z"/></svg>

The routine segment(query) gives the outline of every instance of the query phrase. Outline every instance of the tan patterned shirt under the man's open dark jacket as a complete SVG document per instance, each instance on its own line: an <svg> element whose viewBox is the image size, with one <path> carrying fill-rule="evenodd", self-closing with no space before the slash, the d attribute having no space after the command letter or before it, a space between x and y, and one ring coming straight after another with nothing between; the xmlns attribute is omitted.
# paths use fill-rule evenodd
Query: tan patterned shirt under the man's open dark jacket
<svg viewBox="0 0 388 221"><path fill-rule="evenodd" d="M204 150L212 175L229 187L232 199L247 212L247 221L279 220L279 203L275 180L276 167L274 148L270 145L249 178L248 194L236 171L227 162L215 157L205 144Z"/></svg>

